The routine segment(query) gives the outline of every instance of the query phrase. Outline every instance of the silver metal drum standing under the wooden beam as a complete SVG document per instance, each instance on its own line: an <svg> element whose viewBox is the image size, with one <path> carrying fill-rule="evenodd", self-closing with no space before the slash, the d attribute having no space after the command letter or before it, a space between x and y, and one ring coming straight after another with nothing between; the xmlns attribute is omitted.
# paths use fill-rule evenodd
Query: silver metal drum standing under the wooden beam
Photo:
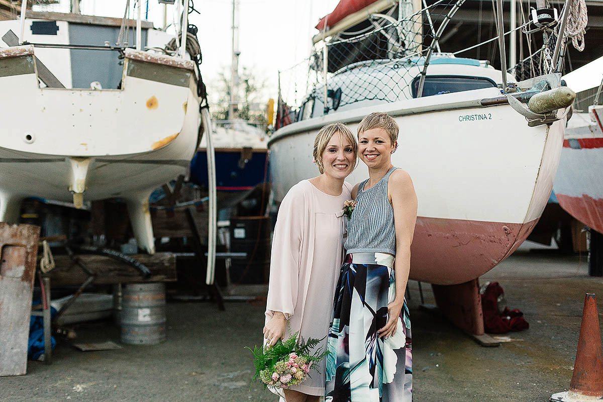
<svg viewBox="0 0 603 402"><path fill-rule="evenodd" d="M165 284L129 283L122 292L121 342L155 345L166 339Z"/></svg>

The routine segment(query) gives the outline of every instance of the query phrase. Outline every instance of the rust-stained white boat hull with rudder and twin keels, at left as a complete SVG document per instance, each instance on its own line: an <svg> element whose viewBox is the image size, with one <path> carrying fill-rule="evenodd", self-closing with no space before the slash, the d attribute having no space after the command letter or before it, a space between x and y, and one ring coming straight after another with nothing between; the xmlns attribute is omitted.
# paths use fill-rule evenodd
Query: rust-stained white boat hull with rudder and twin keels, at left
<svg viewBox="0 0 603 402"><path fill-rule="evenodd" d="M28 196L120 197L153 253L148 196L186 172L198 143L192 63L128 49L121 89L57 89L39 87L33 57L33 46L0 51L0 221L17 221Z"/></svg>

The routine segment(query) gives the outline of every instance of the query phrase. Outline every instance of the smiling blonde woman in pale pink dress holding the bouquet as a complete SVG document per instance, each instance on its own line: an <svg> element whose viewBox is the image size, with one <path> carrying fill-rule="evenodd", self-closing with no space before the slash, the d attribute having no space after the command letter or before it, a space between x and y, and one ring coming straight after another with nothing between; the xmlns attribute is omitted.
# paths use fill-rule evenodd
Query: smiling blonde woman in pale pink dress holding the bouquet
<svg viewBox="0 0 603 402"><path fill-rule="evenodd" d="M343 205L352 186L358 143L341 123L329 124L314 140L320 175L291 187L274 229L264 338L268 345L299 336L323 339L343 257ZM323 339L318 348L326 347ZM287 402L318 402L324 396L324 362L303 383L284 391ZM281 395L283 396L283 395Z"/></svg>

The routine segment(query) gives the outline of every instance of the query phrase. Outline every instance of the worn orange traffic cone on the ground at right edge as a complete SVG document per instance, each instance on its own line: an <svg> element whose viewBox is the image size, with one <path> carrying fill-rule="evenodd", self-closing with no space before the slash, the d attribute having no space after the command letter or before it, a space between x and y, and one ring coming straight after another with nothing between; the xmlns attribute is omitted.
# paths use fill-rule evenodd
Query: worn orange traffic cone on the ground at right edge
<svg viewBox="0 0 603 402"><path fill-rule="evenodd" d="M603 351L599 315L594 293L584 299L582 325L578 339L569 391L551 396L551 402L591 402L603 400Z"/></svg>

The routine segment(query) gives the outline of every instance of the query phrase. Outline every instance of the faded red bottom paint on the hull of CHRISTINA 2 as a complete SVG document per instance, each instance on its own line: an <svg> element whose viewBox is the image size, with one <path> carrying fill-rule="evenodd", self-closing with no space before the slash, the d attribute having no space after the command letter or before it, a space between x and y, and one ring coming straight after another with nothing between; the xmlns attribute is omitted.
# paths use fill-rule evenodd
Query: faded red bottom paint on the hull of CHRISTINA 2
<svg viewBox="0 0 603 402"><path fill-rule="evenodd" d="M459 284L478 278L510 256L538 219L525 224L417 218L410 278Z"/></svg>

